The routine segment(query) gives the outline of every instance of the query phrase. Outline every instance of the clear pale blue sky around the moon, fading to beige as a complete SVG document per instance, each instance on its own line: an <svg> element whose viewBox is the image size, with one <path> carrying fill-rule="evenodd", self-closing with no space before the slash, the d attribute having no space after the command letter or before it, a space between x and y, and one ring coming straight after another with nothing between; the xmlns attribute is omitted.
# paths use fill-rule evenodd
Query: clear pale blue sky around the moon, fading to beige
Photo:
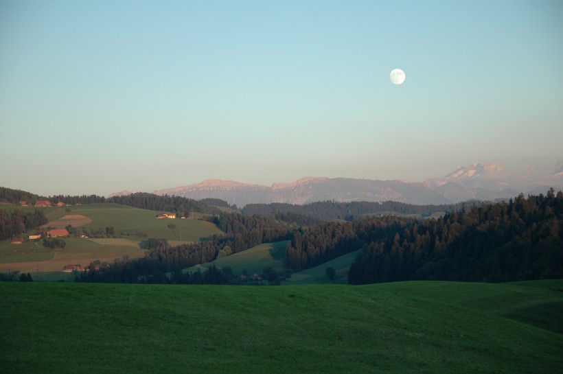
<svg viewBox="0 0 563 374"><path fill-rule="evenodd" d="M3 0L0 186L552 172L562 20L558 0Z"/></svg>

